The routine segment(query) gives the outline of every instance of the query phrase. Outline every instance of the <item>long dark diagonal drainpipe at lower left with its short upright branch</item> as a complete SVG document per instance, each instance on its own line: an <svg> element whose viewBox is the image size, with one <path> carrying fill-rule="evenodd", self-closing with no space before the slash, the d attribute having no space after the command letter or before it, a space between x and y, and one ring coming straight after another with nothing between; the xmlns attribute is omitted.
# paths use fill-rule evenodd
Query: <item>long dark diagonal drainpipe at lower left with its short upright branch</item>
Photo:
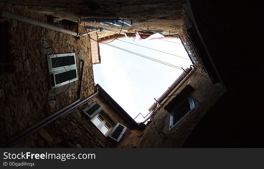
<svg viewBox="0 0 264 169"><path fill-rule="evenodd" d="M83 61L83 60L81 60L81 61ZM82 66L84 66L84 61L82 62ZM82 74L81 74L81 78L80 78L80 83L82 83L82 76L83 76L83 67L82 67ZM96 93L92 94L91 96L87 97L86 99L83 99L80 102L80 97L81 97L81 92L80 91L81 91L81 88L82 88L82 85L80 84L79 85L79 92L78 92L78 99L76 101L70 103L66 107L64 107L61 110L51 114L50 116L48 116L45 119L39 121L38 123L30 126L28 129L25 129L24 131L22 131L18 135L15 135L15 136L11 137L7 141L4 141L4 143L1 144L1 147L12 147L13 145L15 145L17 142L19 142L23 138L26 138L28 135L38 131L39 129L43 128L44 126L48 125L49 123L57 120L58 118L60 118L62 116L65 116L65 115L69 114L75 108L77 108L77 107L85 104L86 102L90 101L92 98L97 96L98 93L99 93L98 88L97 88L97 92Z"/></svg>

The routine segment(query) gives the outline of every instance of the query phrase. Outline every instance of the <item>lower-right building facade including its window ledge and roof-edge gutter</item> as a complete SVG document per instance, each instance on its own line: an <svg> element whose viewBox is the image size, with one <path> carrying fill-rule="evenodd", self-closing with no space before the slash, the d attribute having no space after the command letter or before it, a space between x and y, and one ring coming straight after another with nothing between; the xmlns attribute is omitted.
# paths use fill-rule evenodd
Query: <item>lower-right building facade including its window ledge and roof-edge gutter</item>
<svg viewBox="0 0 264 169"><path fill-rule="evenodd" d="M152 105L150 108L152 113L146 128L140 133L132 131L131 135L124 136L127 140L123 139L118 147L131 147L132 145L138 148L182 147L194 126L226 92L225 87L219 82L212 84L209 78L201 77L198 73L199 70L197 68L190 68L187 72L184 72L166 93L158 99L159 103L156 102ZM191 88L191 90L188 88ZM188 98L193 99L194 108L189 113L187 113L188 111L185 112L183 115L187 115L181 116L183 117L182 120L175 126L171 126L171 114L173 113L171 111L177 106L184 104L184 100ZM178 111L176 109L174 112L180 114L181 110L178 108ZM131 143L131 140L133 140L133 143Z"/></svg>

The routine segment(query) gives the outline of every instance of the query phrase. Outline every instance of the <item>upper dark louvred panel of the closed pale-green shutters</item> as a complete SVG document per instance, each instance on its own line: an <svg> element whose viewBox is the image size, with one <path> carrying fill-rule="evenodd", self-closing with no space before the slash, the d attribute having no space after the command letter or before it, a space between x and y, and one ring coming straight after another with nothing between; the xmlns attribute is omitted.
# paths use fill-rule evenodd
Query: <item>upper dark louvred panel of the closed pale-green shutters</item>
<svg viewBox="0 0 264 169"><path fill-rule="evenodd" d="M75 64L74 55L51 58L52 68Z"/></svg>

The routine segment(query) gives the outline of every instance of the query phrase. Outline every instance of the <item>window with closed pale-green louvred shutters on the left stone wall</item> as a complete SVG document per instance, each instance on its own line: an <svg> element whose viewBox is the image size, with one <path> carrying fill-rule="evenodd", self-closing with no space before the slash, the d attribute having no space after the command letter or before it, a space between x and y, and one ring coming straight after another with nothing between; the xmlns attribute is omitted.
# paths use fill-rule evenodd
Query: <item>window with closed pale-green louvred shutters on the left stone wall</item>
<svg viewBox="0 0 264 169"><path fill-rule="evenodd" d="M47 57L52 89L78 80L75 53L47 55Z"/></svg>

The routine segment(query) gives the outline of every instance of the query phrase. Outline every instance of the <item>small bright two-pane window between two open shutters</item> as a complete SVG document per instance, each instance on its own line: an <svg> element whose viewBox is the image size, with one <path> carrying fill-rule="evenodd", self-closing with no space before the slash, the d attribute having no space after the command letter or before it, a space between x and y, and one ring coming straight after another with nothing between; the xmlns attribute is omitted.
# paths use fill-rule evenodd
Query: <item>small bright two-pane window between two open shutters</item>
<svg viewBox="0 0 264 169"><path fill-rule="evenodd" d="M98 113L91 119L91 122L105 135L108 136L111 129L113 128L109 120L104 117L101 113Z"/></svg>

